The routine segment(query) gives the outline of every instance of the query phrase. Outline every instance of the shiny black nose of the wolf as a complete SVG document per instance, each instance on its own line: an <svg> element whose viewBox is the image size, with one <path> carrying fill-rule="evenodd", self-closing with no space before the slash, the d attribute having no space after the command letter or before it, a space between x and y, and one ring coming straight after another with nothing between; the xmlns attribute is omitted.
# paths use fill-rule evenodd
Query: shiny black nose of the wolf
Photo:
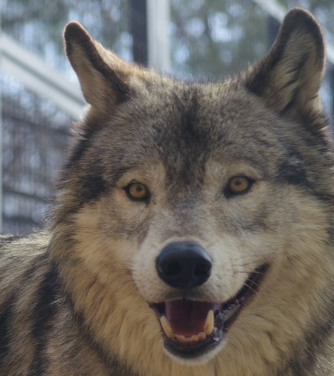
<svg viewBox="0 0 334 376"><path fill-rule="evenodd" d="M159 277L177 289L203 284L211 274L212 259L197 243L174 242L166 245L157 257Z"/></svg>

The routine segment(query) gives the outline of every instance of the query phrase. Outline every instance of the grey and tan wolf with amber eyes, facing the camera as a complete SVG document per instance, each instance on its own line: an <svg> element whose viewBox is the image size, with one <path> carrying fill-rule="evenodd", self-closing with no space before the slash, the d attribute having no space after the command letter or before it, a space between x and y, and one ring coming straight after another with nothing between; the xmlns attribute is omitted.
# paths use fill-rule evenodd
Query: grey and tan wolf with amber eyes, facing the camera
<svg viewBox="0 0 334 376"><path fill-rule="evenodd" d="M48 225L0 248L0 374L334 375L334 159L314 16L187 83L64 31L85 114Z"/></svg>

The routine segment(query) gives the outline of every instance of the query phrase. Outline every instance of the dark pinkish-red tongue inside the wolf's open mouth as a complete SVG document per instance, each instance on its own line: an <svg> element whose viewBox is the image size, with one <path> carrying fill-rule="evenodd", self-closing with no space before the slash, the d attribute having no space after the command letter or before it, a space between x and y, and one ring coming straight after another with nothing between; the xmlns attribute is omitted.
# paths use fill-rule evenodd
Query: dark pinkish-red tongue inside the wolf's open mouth
<svg viewBox="0 0 334 376"><path fill-rule="evenodd" d="M171 300L165 301L165 312L174 333L191 337L203 331L207 314L215 306L202 301Z"/></svg>

